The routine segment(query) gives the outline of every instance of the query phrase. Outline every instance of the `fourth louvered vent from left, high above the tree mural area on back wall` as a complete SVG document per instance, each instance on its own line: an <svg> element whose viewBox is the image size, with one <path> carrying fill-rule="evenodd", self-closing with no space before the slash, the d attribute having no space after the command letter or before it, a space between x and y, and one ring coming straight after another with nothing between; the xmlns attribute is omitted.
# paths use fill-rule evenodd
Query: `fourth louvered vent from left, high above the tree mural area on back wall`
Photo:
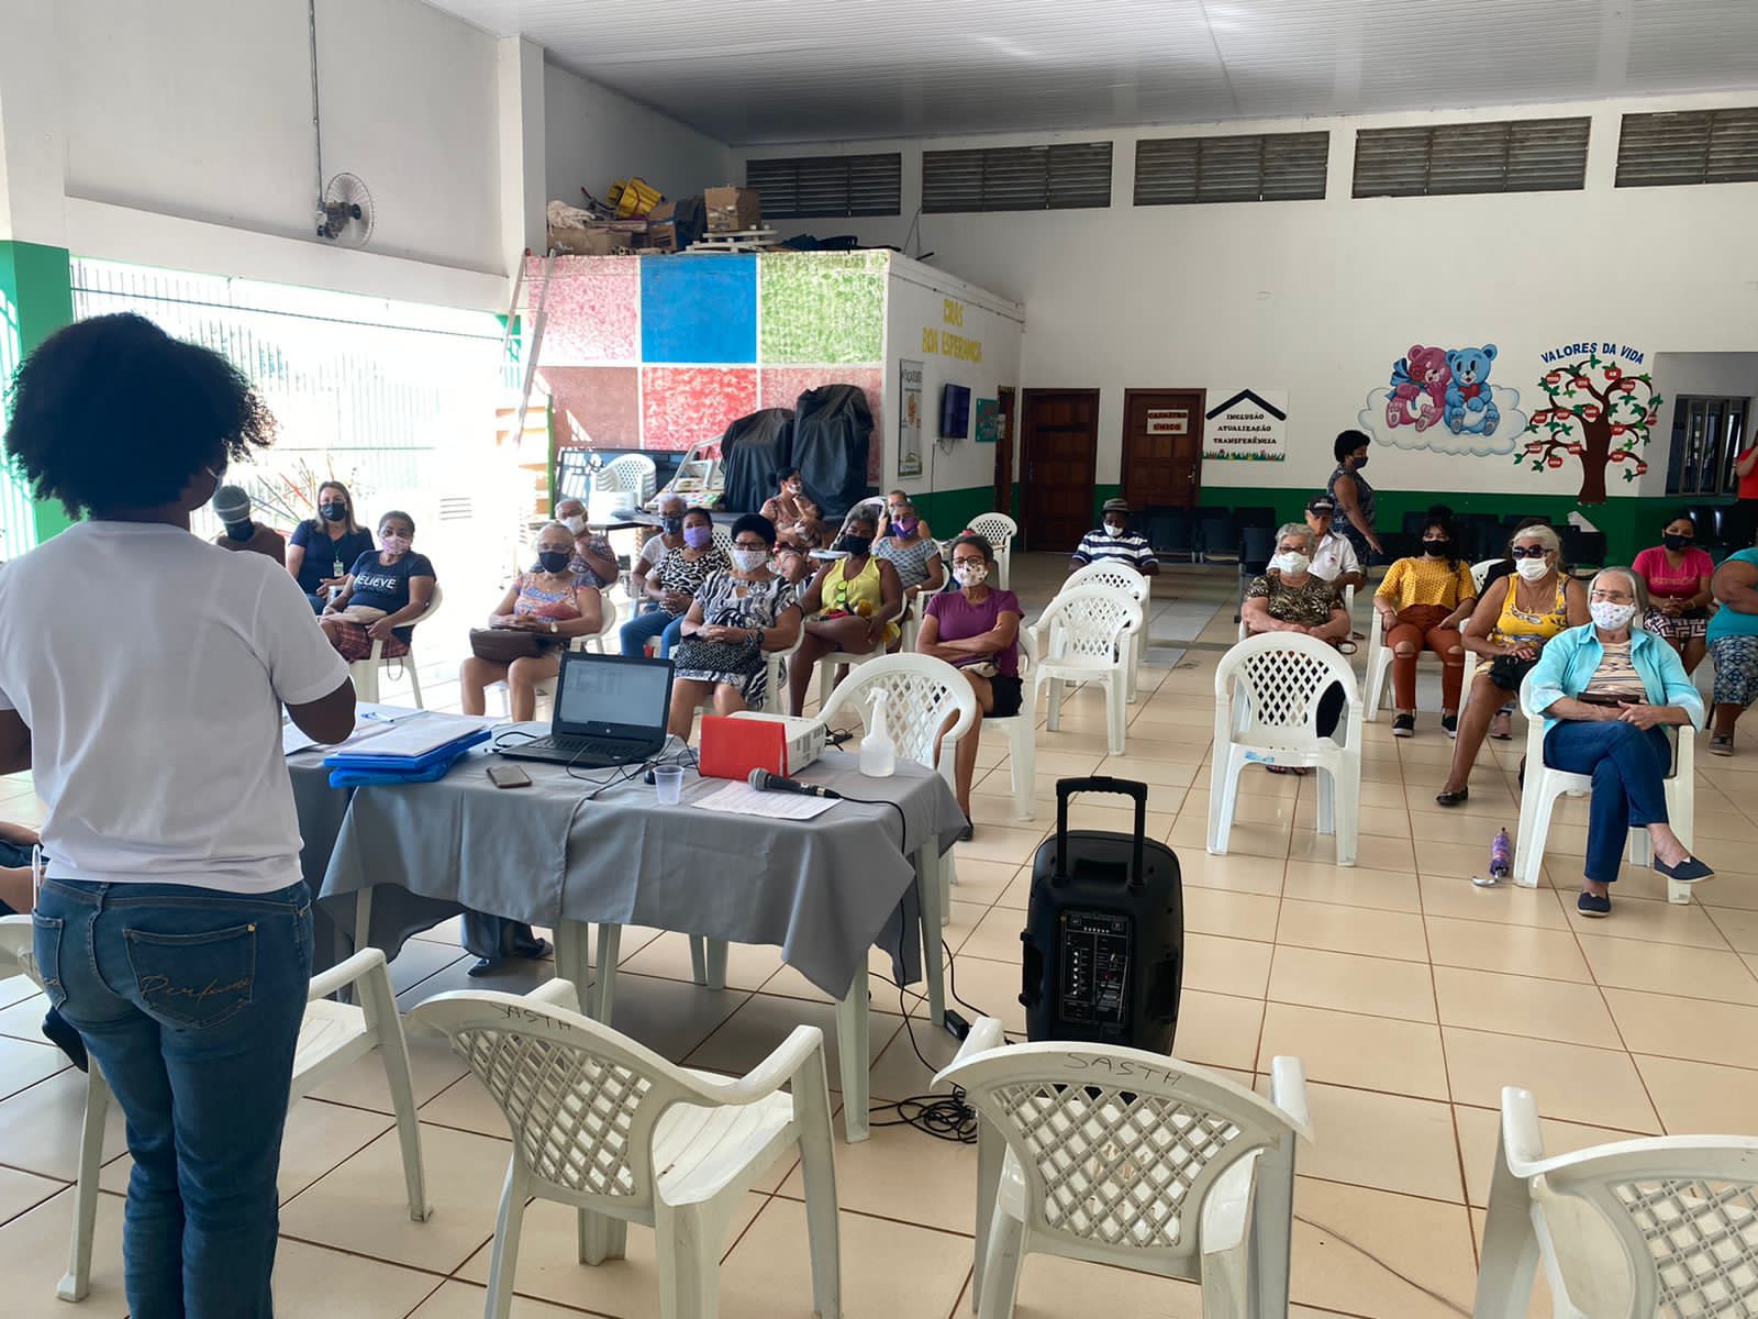
<svg viewBox="0 0 1758 1319"><path fill-rule="evenodd" d="M1587 179L1586 118L1361 128L1355 197L1577 192Z"/></svg>

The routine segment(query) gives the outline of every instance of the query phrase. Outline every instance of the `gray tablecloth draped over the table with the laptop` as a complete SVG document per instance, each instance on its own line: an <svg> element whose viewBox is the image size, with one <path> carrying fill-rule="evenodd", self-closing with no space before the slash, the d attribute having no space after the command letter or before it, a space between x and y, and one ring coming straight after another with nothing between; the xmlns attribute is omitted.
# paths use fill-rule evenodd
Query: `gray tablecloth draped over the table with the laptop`
<svg viewBox="0 0 1758 1319"><path fill-rule="evenodd" d="M520 762L531 788L498 790L490 760L476 751L438 783L352 793L329 786L318 753L288 760L332 958L352 948L355 893L373 886L369 937L392 957L468 906L545 927L608 922L777 944L835 997L872 944L893 955L902 983L921 976L909 856L928 839L951 846L965 823L939 774L898 762L893 777L868 779L854 756L828 753L802 777L881 804L789 821L694 807L724 786L694 770L680 804L659 805L640 779L585 800L594 784L531 762ZM904 837L883 802L902 809Z"/></svg>

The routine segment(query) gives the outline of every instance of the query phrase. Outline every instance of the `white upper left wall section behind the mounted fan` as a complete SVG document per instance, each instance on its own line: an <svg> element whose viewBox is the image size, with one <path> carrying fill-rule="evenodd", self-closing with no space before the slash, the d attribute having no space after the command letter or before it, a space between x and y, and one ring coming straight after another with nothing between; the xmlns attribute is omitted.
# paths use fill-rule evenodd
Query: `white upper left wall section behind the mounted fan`
<svg viewBox="0 0 1758 1319"><path fill-rule="evenodd" d="M56 12L70 197L311 237L304 0ZM505 271L494 39L418 0L318 0L316 16L323 172L371 188L371 250Z"/></svg>

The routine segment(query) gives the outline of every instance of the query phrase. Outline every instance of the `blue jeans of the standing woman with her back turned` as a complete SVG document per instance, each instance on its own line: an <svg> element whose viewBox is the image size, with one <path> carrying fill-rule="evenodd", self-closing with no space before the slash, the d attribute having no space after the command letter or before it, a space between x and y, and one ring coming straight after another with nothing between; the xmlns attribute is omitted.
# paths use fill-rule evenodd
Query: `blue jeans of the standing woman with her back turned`
<svg viewBox="0 0 1758 1319"><path fill-rule="evenodd" d="M311 895L49 879L37 962L128 1120L135 1319L267 1319Z"/></svg>

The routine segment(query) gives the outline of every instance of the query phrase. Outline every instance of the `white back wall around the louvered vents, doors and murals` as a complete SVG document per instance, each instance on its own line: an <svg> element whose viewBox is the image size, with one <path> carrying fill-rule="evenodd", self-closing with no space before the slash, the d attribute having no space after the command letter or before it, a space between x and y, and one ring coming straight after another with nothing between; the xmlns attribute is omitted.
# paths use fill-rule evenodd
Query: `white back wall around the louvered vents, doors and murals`
<svg viewBox="0 0 1758 1319"><path fill-rule="evenodd" d="M1275 485L1315 487L1331 440L1355 426L1412 345L1494 343L1493 382L1542 397L1540 353L1582 339L1647 353L1758 348L1758 183L1612 188L1619 116L1753 93L1522 106L1507 111L1071 132L1115 142L1113 206L1088 211L928 215L909 251L1025 304L1025 387L1101 387L1099 480L1116 482L1123 390L1241 387L1289 392L1290 457ZM1558 193L1352 200L1354 128L1591 114L1587 188ZM1329 197L1318 202L1134 208L1134 139L1210 132L1331 130ZM921 151L1057 141L1053 135L765 148L904 153L900 216L837 222L904 244L919 206ZM798 222L786 229L823 227ZM1665 392L1665 390L1663 390ZM1667 417L1663 417L1663 422ZM1665 470L1665 438L1649 448ZM1206 485L1264 482L1262 464L1204 463ZM1382 447L1382 487L1573 494L1579 471L1535 475L1512 455L1447 457ZM977 482L974 482L977 484ZM1616 494L1633 492L1614 480Z"/></svg>

